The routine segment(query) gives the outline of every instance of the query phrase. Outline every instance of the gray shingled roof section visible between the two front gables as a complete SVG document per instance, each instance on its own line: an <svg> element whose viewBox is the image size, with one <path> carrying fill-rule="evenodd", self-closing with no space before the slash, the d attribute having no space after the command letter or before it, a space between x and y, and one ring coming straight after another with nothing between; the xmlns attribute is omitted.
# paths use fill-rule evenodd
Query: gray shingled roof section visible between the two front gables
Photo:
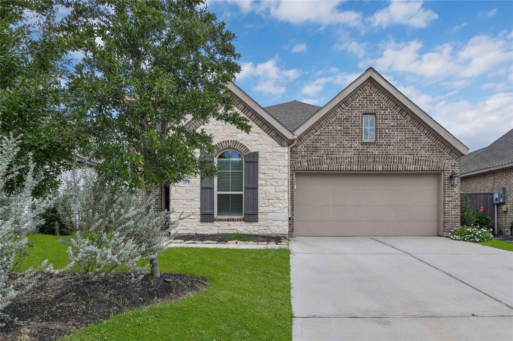
<svg viewBox="0 0 513 341"><path fill-rule="evenodd" d="M316 111L321 109L318 105L308 104L300 101L291 101L281 104L266 106L264 108L275 119L293 132Z"/></svg>

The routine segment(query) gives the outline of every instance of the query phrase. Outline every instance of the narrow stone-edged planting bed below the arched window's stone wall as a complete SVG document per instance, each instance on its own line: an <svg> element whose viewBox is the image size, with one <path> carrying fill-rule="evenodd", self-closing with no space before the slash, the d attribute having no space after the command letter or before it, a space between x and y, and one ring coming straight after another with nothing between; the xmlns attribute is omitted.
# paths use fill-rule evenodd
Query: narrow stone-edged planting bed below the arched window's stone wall
<svg viewBox="0 0 513 341"><path fill-rule="evenodd" d="M186 244L270 244L287 245L288 239L283 236L245 235L243 233L208 234L177 234L170 239L171 243Z"/></svg>

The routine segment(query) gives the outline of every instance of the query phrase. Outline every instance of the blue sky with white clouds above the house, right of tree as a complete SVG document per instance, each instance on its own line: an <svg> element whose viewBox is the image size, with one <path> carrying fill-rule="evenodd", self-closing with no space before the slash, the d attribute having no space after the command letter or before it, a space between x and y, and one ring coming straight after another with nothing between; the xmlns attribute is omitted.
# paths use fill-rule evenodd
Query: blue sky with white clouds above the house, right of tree
<svg viewBox="0 0 513 341"><path fill-rule="evenodd" d="M465 143L513 129L513 2L208 1L262 106L324 105L372 66Z"/></svg>

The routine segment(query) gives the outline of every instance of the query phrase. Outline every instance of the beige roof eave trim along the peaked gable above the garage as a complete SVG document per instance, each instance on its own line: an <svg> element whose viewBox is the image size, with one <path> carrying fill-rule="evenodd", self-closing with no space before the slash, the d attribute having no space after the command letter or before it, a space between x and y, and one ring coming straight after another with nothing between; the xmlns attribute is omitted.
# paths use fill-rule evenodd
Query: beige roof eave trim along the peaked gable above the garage
<svg viewBox="0 0 513 341"><path fill-rule="evenodd" d="M398 89L396 89L390 82L388 82L382 75L380 75L373 68L368 68L360 77L355 79L349 86L347 86L337 96L333 97L326 105L317 111L312 117L301 124L298 129L293 133L294 135L300 136L306 132L315 122L319 121L324 115L326 115L331 109L334 108L338 103L344 100L354 90L360 87L367 79L372 78L376 81L383 89L389 92L393 97L397 98L410 112L417 116L422 122L430 128L433 133L438 135L444 141L449 143L455 151L458 151L460 155L468 154L468 147L464 145L455 136L449 133L440 123L435 121L431 116L426 114L420 109L415 103L413 103L408 97L403 95Z"/></svg>

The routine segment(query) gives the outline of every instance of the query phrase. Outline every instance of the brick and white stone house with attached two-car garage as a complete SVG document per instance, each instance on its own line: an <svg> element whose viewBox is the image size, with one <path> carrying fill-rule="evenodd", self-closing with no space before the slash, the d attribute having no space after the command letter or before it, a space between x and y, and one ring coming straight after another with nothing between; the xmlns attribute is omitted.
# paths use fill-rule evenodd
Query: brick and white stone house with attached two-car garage
<svg viewBox="0 0 513 341"><path fill-rule="evenodd" d="M222 122L188 122L218 148L215 179L171 186L178 233L290 236L437 236L458 227L451 185L468 148L369 68L326 105L262 108L231 83L245 134ZM167 207L167 206L166 206Z"/></svg>

